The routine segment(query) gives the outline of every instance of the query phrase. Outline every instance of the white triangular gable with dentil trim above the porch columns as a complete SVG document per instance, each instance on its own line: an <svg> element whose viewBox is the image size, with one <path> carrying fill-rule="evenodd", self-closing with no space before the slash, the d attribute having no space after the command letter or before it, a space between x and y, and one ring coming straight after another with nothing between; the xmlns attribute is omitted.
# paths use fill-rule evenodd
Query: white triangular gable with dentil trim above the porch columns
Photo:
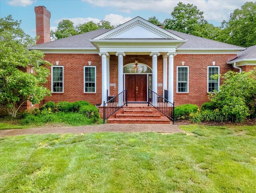
<svg viewBox="0 0 256 193"><path fill-rule="evenodd" d="M95 40L100 39L174 39L183 40L181 37L164 30L141 17L136 17L102 35Z"/></svg>

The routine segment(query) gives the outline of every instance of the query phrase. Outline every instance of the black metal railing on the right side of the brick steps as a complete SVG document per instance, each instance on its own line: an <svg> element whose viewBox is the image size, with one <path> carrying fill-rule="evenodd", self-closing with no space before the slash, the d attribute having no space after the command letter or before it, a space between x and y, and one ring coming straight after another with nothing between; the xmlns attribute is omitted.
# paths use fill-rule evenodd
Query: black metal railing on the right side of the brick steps
<svg viewBox="0 0 256 193"><path fill-rule="evenodd" d="M154 106L157 110L166 115L174 124L174 102L166 100L148 88L148 106Z"/></svg>

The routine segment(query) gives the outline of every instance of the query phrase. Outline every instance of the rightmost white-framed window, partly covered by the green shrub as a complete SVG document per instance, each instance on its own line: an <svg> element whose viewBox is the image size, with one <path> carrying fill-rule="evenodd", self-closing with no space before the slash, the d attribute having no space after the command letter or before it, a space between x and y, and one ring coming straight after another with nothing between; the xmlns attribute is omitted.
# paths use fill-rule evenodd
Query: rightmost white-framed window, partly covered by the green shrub
<svg viewBox="0 0 256 193"><path fill-rule="evenodd" d="M218 91L220 85L220 78L218 80L212 79L212 75L220 74L220 68L218 66L208 66L208 93Z"/></svg>

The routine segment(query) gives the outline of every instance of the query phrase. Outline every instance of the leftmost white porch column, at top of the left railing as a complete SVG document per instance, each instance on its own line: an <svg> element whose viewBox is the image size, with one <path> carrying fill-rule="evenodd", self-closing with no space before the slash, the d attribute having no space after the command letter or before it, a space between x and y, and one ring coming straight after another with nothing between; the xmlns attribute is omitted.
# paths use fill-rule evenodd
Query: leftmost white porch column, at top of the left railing
<svg viewBox="0 0 256 193"><path fill-rule="evenodd" d="M100 52L99 55L101 56L101 65L102 65L102 103L103 101L107 102L107 56L109 55L108 52Z"/></svg>

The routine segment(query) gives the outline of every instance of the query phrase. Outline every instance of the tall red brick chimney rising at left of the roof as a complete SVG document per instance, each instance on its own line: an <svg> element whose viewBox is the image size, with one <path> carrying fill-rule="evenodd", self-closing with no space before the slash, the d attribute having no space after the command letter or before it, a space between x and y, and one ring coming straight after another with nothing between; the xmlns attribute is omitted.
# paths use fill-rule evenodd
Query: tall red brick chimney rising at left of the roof
<svg viewBox="0 0 256 193"><path fill-rule="evenodd" d="M35 7L36 13L36 35L40 38L36 41L36 44L45 43L51 41L50 38L50 18L51 13L45 6Z"/></svg>

